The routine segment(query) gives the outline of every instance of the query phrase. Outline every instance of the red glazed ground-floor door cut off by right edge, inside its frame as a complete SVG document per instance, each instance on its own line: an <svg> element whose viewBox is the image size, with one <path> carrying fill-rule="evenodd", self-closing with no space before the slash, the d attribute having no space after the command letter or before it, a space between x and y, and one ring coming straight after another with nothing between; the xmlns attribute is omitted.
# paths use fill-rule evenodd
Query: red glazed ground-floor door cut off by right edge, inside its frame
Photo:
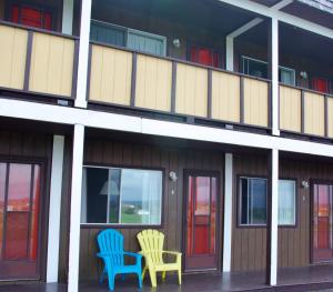
<svg viewBox="0 0 333 292"><path fill-rule="evenodd" d="M313 184L313 262L333 259L332 190L330 184Z"/></svg>

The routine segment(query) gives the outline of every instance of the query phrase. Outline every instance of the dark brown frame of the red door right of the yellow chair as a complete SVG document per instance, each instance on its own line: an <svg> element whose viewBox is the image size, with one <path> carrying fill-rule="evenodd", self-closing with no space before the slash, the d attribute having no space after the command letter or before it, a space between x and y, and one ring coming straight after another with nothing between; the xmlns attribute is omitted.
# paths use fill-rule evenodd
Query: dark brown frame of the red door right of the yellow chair
<svg viewBox="0 0 333 292"><path fill-rule="evenodd" d="M192 271L185 270L185 259L186 259L186 215L188 215L188 177L189 175L201 175L201 177L214 177L216 178L216 245L215 245L215 254L216 254L216 269L198 269ZM211 170L192 170L192 169L184 169L183 170L183 217L182 217L182 270L186 273L200 273L200 272L210 272L210 273L221 273L222 269L222 249L221 245L223 243L222 235L223 230L221 230L222 225L222 188L221 188L221 172L220 171L211 171ZM223 225L222 225L223 226Z"/></svg>

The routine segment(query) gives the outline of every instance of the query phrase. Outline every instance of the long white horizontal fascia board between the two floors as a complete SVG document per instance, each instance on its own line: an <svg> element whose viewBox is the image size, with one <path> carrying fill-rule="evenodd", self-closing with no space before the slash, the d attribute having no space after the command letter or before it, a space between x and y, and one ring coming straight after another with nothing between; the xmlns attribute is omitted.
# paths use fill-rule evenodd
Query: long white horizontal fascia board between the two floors
<svg viewBox="0 0 333 292"><path fill-rule="evenodd" d="M0 117L333 158L333 145L324 143L20 100L0 99Z"/></svg>

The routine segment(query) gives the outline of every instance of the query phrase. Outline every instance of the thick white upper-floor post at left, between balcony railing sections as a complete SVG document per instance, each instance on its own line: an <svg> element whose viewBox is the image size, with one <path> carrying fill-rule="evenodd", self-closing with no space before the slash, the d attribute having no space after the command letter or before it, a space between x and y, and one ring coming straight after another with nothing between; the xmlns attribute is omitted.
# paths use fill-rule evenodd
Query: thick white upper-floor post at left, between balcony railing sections
<svg viewBox="0 0 333 292"><path fill-rule="evenodd" d="M80 26L80 49L75 107L87 108L87 80L88 59L90 40L91 1L82 0L81 26Z"/></svg>

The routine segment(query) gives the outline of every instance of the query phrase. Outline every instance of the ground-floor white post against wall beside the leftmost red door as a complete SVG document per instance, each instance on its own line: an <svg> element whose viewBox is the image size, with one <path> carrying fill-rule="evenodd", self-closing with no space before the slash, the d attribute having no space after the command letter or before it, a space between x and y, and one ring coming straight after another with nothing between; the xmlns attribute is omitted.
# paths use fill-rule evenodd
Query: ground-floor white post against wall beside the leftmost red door
<svg viewBox="0 0 333 292"><path fill-rule="evenodd" d="M58 282L63 145L64 137L53 135L47 263L48 283Z"/></svg>

